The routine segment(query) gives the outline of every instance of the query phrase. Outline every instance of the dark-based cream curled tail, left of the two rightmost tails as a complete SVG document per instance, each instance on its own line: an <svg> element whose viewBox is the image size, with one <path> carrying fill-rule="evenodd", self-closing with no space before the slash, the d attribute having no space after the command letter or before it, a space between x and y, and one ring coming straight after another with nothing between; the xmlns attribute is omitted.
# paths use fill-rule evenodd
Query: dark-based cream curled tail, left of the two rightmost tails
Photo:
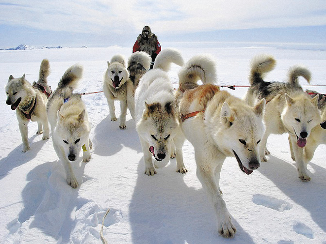
<svg viewBox="0 0 326 244"><path fill-rule="evenodd" d="M275 68L276 60L273 56L267 54L261 54L255 56L250 61L250 76L249 83L250 85L260 82L264 75Z"/></svg>

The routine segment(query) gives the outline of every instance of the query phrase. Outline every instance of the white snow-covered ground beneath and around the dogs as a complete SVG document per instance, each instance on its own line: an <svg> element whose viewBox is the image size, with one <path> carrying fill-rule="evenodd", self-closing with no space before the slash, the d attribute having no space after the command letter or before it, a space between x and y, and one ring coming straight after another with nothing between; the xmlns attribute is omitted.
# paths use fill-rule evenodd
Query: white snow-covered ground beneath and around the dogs
<svg viewBox="0 0 326 244"><path fill-rule="evenodd" d="M271 46L202 47L179 45L185 61L209 53L216 60L220 85L248 85L249 61L259 53L274 55L277 67L267 80L282 81L293 64L304 64L312 73L311 85L325 85L326 52L279 49ZM230 45L231 46L231 45ZM325 145L320 145L308 169L310 182L298 179L287 135L271 135L272 153L266 163L245 175L235 158L227 158L220 186L232 221L234 238L217 233L216 217L196 177L194 149L183 146L185 175L176 172L176 161L144 174L143 152L130 113L127 129L112 122L103 93L83 95L92 124L92 159L73 162L80 186L65 182L51 137L36 135L37 123L29 123L31 150L22 152L16 114L5 104L4 86L10 75L24 73L32 83L38 79L42 59L50 61L49 85L54 89L65 70L79 62L84 67L77 92L102 91L107 61L115 54L126 59L131 48L63 48L0 51L0 243L98 244L102 218L103 235L116 244L326 244ZM179 67L172 65L171 82L178 85ZM308 85L302 78L302 85ZM304 87L326 93L326 87ZM247 88L234 91L242 97ZM120 105L115 104L119 115Z"/></svg>

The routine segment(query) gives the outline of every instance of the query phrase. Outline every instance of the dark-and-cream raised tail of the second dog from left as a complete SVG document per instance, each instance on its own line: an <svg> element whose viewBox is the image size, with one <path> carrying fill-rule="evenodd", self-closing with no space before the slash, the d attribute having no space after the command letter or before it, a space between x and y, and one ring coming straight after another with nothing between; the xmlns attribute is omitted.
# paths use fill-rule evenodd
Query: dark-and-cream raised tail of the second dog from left
<svg viewBox="0 0 326 244"><path fill-rule="evenodd" d="M62 89L66 86L71 87L72 90L76 89L78 81L82 76L82 66L80 64L74 64L65 71L65 74L61 77L57 89Z"/></svg>

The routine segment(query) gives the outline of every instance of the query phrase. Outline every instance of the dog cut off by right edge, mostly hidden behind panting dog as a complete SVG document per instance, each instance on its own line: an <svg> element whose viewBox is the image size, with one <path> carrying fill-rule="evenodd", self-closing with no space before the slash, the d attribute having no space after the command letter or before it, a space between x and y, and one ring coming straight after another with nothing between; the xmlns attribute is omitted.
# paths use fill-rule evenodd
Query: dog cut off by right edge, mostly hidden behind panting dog
<svg viewBox="0 0 326 244"><path fill-rule="evenodd" d="M326 96L316 91L306 90L306 92L314 97L315 95L319 96L318 108L321 113L321 123L315 126L311 130L310 137L307 138L307 144L303 149L303 160L305 167L307 168L308 163L313 158L313 154L315 153L316 148L320 144L326 144ZM290 149L291 149L291 157L293 161L296 161L293 148L291 147L291 140L289 137ZM309 177L309 176L308 176ZM310 180L310 177L307 178L307 181Z"/></svg>

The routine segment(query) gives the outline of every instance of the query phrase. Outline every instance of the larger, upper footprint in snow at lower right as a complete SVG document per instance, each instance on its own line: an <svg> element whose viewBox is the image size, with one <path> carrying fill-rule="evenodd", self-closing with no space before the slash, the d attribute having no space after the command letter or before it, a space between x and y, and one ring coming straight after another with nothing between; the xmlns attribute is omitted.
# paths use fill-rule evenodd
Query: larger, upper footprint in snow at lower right
<svg viewBox="0 0 326 244"><path fill-rule="evenodd" d="M285 210L292 209L292 205L284 200L277 198L265 196L262 194L255 194L252 197L253 203L261 205L270 209L277 210L278 212L283 212Z"/></svg>

